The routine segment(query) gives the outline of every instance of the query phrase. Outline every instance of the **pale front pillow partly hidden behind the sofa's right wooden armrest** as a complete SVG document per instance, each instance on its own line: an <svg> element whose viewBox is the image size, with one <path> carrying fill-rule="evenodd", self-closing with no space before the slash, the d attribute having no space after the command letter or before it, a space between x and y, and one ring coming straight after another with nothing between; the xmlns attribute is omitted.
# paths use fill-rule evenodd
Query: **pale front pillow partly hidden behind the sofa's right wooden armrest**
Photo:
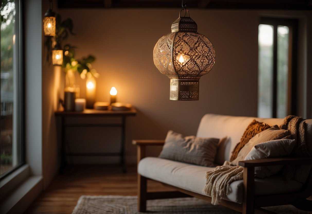
<svg viewBox="0 0 312 214"><path fill-rule="evenodd" d="M290 155L295 147L293 139L271 140L255 145L246 155L244 160L254 160L261 158L277 158ZM255 177L266 178L278 173L283 165L255 167Z"/></svg>

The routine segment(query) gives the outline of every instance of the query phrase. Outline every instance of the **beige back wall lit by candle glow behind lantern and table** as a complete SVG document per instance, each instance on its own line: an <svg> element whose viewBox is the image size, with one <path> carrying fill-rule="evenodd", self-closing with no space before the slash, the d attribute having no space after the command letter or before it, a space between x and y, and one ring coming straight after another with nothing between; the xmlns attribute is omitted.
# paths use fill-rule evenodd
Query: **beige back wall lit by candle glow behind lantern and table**
<svg viewBox="0 0 312 214"><path fill-rule="evenodd" d="M73 19L76 36L70 36L67 42L78 46L77 57L96 56L92 66L100 73L97 101L108 102L110 88L115 86L118 101L131 103L138 111L135 117L127 119L127 163L135 162L136 150L131 145L132 139L164 139L169 129L184 135L196 134L205 113L257 115L259 17L262 14L274 15L275 11L190 9L198 32L207 36L216 49L212 71L200 80L199 101L169 100L169 79L153 63L154 45L161 36L170 32L179 9L58 9L57 12L63 19ZM306 19L302 12L279 13L295 14ZM305 71L305 68L301 69L301 72ZM43 104L43 109L48 110L46 116L43 115L46 117L44 124L50 124L43 130L43 138L46 139L46 149L52 150L52 153L46 153L48 158L45 159L46 162L55 162L55 127L51 115L56 96L54 92L57 90L53 84L57 83L57 79L51 72L43 75L43 81L47 83L43 83L43 100L45 96L53 95ZM76 75L76 83L80 85L81 97L84 97L85 80ZM305 105L299 105L300 109L306 109ZM300 112L304 114L304 110ZM88 149L98 151L97 147L104 147L105 136L100 130L81 131L92 134L87 140L81 140L75 137L75 131L69 131L68 138L74 139L71 148L84 151L88 144ZM102 145L92 143L98 141L103 142ZM110 139L108 147L113 141ZM114 142L118 143L119 139ZM90 158L75 160L79 163L91 161ZM93 159L95 162L101 160ZM114 158L105 159L111 160L117 161Z"/></svg>

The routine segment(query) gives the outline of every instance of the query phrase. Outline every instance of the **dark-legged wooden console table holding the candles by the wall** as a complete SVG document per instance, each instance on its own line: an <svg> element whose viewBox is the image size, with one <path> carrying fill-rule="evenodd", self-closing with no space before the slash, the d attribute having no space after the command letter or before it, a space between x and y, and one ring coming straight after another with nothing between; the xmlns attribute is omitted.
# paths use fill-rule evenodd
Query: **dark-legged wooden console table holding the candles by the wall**
<svg viewBox="0 0 312 214"><path fill-rule="evenodd" d="M115 110L96 110L85 109L84 111L56 111L55 116L61 118L61 168L60 173L64 173L64 167L67 164L66 156L120 156L120 163L123 172L126 172L126 166L124 161L124 145L125 145L125 121L127 116L134 116L136 110L134 108L125 111ZM66 118L71 117L103 117L103 123L66 123ZM107 117L121 118L121 123L105 123ZM121 128L121 141L120 151L110 153L67 153L66 152L66 139L65 131L66 127L120 127Z"/></svg>

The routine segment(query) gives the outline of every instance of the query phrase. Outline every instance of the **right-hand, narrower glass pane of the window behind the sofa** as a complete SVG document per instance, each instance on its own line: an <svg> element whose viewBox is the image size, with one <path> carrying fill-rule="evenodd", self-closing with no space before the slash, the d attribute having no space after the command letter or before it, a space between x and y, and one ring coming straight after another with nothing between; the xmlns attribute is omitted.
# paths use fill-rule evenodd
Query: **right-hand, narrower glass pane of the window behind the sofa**
<svg viewBox="0 0 312 214"><path fill-rule="evenodd" d="M277 106L276 116L287 116L289 28L277 26Z"/></svg>

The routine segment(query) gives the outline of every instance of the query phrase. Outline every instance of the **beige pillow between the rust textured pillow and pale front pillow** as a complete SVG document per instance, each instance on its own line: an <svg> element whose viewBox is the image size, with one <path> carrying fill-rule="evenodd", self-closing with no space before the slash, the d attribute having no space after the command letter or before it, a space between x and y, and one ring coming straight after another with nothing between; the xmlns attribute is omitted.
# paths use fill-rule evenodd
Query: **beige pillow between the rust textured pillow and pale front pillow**
<svg viewBox="0 0 312 214"><path fill-rule="evenodd" d="M251 151L251 149L259 144L264 143L270 140L277 140L282 138L289 138L290 137L290 131L285 129L280 129L277 125L266 129L258 134L256 134L254 137L252 137L248 143L245 144L245 146L241 149L241 151L238 153L237 158L231 162L232 165L238 166L238 162L245 159L247 154Z"/></svg>

